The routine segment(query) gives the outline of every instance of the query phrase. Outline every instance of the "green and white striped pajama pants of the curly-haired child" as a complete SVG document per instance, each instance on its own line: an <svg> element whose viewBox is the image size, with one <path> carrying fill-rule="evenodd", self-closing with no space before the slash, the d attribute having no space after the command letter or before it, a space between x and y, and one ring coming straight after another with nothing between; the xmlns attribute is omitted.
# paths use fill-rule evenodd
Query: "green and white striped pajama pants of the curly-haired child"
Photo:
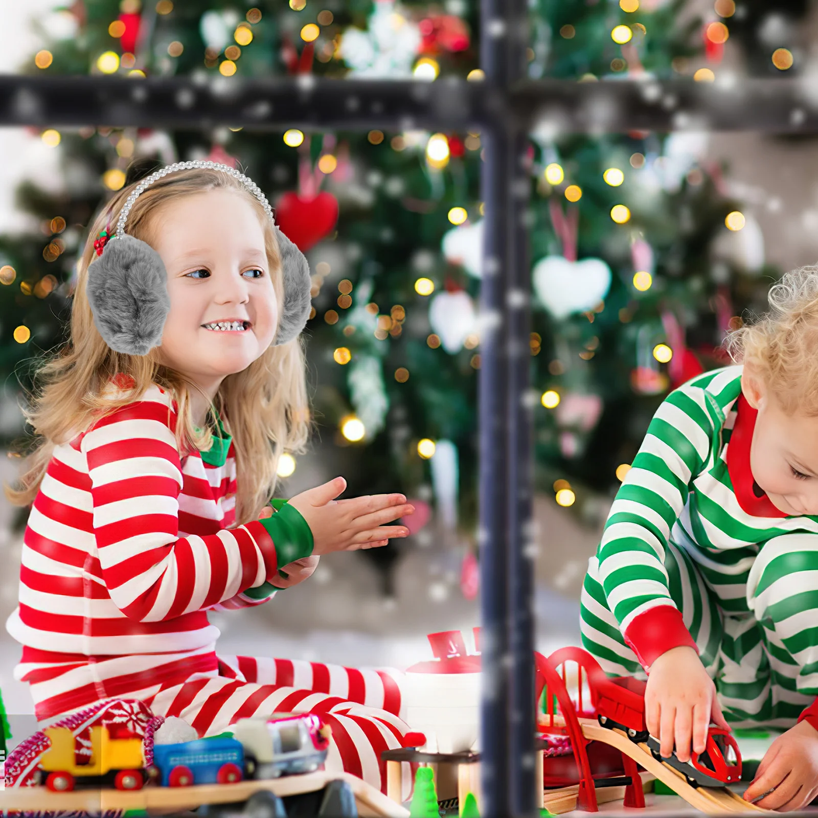
<svg viewBox="0 0 818 818"><path fill-rule="evenodd" d="M784 534L764 543L751 565L715 565L694 548L668 544L671 599L728 721L789 728L818 695L818 537ZM719 592L733 604L721 605ZM735 605L742 597L746 606ZM609 609L596 556L582 588L580 629L605 672L645 678Z"/></svg>

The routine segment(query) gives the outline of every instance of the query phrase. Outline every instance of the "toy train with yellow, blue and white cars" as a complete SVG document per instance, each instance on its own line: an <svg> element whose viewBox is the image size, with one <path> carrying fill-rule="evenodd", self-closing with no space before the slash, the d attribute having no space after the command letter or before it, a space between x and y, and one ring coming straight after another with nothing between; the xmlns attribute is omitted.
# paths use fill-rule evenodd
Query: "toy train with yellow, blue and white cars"
<svg viewBox="0 0 818 818"><path fill-rule="evenodd" d="M276 714L240 719L233 735L154 744L153 763L146 767L142 739L127 730L113 735L105 726L91 729L91 754L78 761L74 735L68 727L47 727L51 745L40 757L35 776L53 792L68 792L76 784L142 789L235 784L245 778L267 779L312 772L325 762L330 726L315 713Z"/></svg>

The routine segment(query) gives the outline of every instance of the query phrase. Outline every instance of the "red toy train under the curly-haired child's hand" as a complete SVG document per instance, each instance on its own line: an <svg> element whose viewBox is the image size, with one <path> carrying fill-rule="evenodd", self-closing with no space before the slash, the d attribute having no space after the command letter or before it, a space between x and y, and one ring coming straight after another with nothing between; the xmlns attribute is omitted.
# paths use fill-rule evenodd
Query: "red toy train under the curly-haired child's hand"
<svg viewBox="0 0 818 818"><path fill-rule="evenodd" d="M631 677L597 679L596 712L600 725L627 733L636 744L647 744L657 761L666 762L685 775L693 787L723 787L741 780L741 754L728 730L712 726L703 753L693 753L690 762L659 754L659 743L645 725L645 682Z"/></svg>

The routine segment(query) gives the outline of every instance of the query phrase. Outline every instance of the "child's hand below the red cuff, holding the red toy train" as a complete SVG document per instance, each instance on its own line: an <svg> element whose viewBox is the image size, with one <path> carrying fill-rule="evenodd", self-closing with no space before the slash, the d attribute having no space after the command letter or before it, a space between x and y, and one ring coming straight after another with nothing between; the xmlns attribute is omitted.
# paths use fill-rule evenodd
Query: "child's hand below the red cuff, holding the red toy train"
<svg viewBox="0 0 818 818"><path fill-rule="evenodd" d="M716 685L693 648L667 650L650 666L645 689L645 723L659 740L660 753L690 761L690 739L695 753L703 753L710 721L730 730L721 715Z"/></svg>

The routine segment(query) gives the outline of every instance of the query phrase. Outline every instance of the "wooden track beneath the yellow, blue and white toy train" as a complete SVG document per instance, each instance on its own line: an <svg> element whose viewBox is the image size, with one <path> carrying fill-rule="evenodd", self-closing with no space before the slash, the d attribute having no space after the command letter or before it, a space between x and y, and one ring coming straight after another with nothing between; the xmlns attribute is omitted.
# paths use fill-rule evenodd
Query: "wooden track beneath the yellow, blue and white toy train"
<svg viewBox="0 0 818 818"><path fill-rule="evenodd" d="M371 784L349 773L323 770L305 775L285 775L278 779L240 781L238 784L202 784L196 787L146 787L137 791L118 789L75 789L70 793L52 793L45 787L20 787L0 790L0 815L10 810L108 810L161 811L192 810L205 804L246 801L253 793L267 789L282 798L323 789L332 780L344 780L355 793L358 814L375 818L408 818L409 811L387 798Z"/></svg>

